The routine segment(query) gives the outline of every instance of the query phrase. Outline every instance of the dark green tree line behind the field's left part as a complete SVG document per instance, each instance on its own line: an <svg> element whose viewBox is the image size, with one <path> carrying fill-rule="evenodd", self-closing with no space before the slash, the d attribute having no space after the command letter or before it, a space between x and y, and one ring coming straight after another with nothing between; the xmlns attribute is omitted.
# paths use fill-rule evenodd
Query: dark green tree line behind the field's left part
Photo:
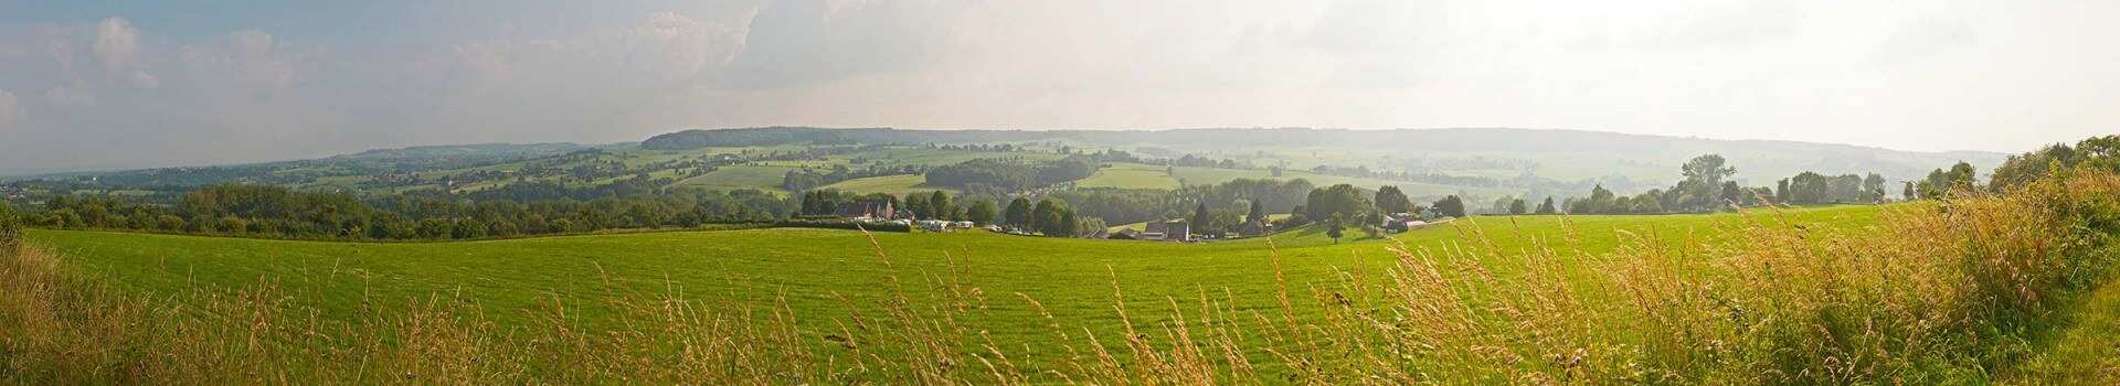
<svg viewBox="0 0 2120 386"><path fill-rule="evenodd" d="M598 199L473 199L435 191L382 199L282 187L216 185L174 204L55 195L30 225L295 240L477 240L606 229L772 223L793 206L765 191L661 191Z"/></svg>

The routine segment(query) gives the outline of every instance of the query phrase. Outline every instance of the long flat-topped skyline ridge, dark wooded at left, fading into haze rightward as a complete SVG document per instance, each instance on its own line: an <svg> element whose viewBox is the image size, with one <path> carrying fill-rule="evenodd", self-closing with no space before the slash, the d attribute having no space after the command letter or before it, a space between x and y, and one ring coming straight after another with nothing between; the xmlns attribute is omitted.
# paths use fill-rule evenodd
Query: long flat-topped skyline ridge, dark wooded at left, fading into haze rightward
<svg viewBox="0 0 2120 386"><path fill-rule="evenodd" d="M1579 129L827 129L827 127L744 127L687 129L644 140L642 148L683 151L704 146L770 146L770 144L967 144L967 142L1073 142L1115 148L1172 148L1219 157L1285 161L1308 165L1423 168L1433 163L1514 161L1531 170L1495 170L1492 174L1537 174L1548 178L1618 178L1641 185L1662 185L1677 176L1679 163L1694 155L1724 155L1749 185L1772 185L1798 172L1861 174L1876 172L1891 180L1921 178L1929 170L1967 161L1982 172L1993 170L2003 153L1955 151L1916 153L1853 144L1819 144L1791 140L1709 140L1675 136L1639 136ZM1344 159L1280 157L1270 153L1350 151ZM1268 153L1268 155L1259 155ZM1459 172L1433 168L1425 172ZM1507 178L1507 176L1503 176Z"/></svg>

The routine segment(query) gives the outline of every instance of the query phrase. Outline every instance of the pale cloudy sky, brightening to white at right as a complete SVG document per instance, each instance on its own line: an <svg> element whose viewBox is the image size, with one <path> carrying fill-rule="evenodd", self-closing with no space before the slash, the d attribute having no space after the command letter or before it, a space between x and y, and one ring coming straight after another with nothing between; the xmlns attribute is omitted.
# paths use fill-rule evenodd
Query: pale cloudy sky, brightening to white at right
<svg viewBox="0 0 2120 386"><path fill-rule="evenodd" d="M0 0L0 174L691 127L2120 134L2120 2Z"/></svg>

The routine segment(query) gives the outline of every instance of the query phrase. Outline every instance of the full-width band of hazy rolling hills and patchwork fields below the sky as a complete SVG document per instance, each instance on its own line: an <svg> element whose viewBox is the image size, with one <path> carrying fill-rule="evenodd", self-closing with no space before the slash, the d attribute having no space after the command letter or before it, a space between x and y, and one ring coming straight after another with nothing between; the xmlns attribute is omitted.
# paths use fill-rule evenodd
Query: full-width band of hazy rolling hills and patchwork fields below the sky
<svg viewBox="0 0 2120 386"><path fill-rule="evenodd" d="M1005 151L962 144L1013 144ZM778 146L778 148L757 148ZM1980 172L2001 163L1999 153L1914 153L1874 146L1787 140L1707 140L1575 129L825 129L748 127L687 129L640 144L445 144L379 148L301 161L206 168L76 172L8 178L45 180L15 191L163 191L250 182L305 191L392 195L405 191L471 193L515 182L604 187L619 178L649 176L681 187L782 191L784 174L816 168L912 180L905 170L969 159L1058 159L1062 151L1126 151L1136 163L1128 178L1107 176L1090 187L1179 187L1232 178L1359 180L1361 187L1418 187L1416 195L1492 199L1571 197L1601 182L1639 193L1671 187L1679 165L1696 155L1724 155L1734 180L1772 187L1798 172L1883 174L1914 180L1929 170L1969 161ZM1177 163L1179 168L1164 168ZM882 172L878 172L882 170ZM893 172L897 170L897 172ZM1280 170L1280 172L1274 172ZM1293 170L1293 172L1289 172ZM837 180L827 180L837 182ZM859 185L869 187L869 185ZM1897 187L1893 182L1893 187ZM905 191L922 187L895 187Z"/></svg>

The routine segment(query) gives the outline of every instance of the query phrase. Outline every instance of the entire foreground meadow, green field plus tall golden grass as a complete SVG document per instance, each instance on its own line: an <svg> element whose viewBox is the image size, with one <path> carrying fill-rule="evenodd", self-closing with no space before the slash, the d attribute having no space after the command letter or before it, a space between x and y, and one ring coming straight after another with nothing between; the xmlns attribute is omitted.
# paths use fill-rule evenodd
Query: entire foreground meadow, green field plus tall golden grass
<svg viewBox="0 0 2120 386"><path fill-rule="evenodd" d="M2112 303L2114 193L2120 178L2095 176L1946 204L1476 216L1340 242L1314 227L1215 244L30 231L0 265L0 356L32 384L2112 380L2075 361L2109 352L2112 318L2061 314ZM142 316L157 322L125 322Z"/></svg>

